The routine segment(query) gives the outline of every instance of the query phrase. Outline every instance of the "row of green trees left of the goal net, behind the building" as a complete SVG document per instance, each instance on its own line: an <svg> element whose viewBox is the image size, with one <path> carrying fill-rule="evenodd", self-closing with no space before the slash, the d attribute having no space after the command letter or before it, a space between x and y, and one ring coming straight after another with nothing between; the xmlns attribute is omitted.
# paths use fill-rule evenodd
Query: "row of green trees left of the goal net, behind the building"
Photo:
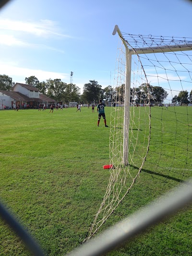
<svg viewBox="0 0 192 256"><path fill-rule="evenodd" d="M80 92L80 88L75 84L67 84L61 81L61 79L48 79L43 82L39 82L36 76L25 77L27 85L32 85L39 90L41 94L44 94L56 101L63 102L98 102L98 100L106 99L112 100L112 87L109 85L102 89L102 86L95 80L90 80L89 83L84 84L83 94ZM15 82L12 81L12 77L8 75L0 75L0 90L11 91Z"/></svg>

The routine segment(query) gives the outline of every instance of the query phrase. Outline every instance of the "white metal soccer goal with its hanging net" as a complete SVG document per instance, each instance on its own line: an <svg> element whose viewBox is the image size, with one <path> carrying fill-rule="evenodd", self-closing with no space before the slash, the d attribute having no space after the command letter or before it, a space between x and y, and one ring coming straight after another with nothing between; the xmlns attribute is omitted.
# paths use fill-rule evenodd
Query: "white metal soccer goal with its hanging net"
<svg viewBox="0 0 192 256"><path fill-rule="evenodd" d="M87 240L138 176L142 180L142 171L148 173L143 186L151 198L188 179L192 171L192 38L130 35L117 25L116 33L109 138L113 168Z"/></svg>

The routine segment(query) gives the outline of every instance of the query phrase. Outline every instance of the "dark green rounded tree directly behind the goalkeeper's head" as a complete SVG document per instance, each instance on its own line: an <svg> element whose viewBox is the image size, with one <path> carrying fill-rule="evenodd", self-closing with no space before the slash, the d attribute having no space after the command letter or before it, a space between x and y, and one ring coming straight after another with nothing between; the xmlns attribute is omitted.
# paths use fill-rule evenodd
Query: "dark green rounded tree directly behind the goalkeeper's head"
<svg viewBox="0 0 192 256"><path fill-rule="evenodd" d="M88 102L98 102L102 92L101 85L98 85L98 82L95 80L90 80L89 82L84 84L83 98Z"/></svg>

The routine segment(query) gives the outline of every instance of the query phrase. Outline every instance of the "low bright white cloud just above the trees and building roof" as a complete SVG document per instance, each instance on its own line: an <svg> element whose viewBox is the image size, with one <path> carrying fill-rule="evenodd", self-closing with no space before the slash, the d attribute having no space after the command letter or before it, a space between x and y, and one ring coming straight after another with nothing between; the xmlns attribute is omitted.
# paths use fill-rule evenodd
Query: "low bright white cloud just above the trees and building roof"
<svg viewBox="0 0 192 256"><path fill-rule="evenodd" d="M29 77L31 75L35 75L39 81L46 81L47 79L66 79L69 77L67 73L60 73L60 72L52 72L52 71L45 71L45 70L36 70L36 69L28 69L23 67L18 67L14 65L14 63L4 63L0 62L0 71L1 74L7 74L11 76L14 82L20 82L18 80L24 80L25 77Z"/></svg>

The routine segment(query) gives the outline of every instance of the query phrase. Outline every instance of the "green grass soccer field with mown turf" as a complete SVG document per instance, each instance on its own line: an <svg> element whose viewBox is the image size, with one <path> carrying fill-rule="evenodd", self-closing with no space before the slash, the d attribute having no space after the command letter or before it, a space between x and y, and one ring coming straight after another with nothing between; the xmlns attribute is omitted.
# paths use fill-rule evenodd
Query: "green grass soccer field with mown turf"
<svg viewBox="0 0 192 256"><path fill-rule="evenodd" d="M177 125L174 112L151 111L151 151L144 169L99 232L192 176L192 108L188 108L188 115L183 114L185 107L178 108ZM110 108L106 108L106 117L110 125ZM181 122L186 123L186 118L188 127ZM167 125L160 132L162 119ZM165 133L170 126L184 136L179 140ZM97 112L87 108L53 113L0 111L0 199L39 241L46 255L66 254L86 238L108 185L110 173L103 165L109 163L109 133L103 120L97 127ZM178 146L172 154L170 141ZM186 143L190 149L187 164L182 154ZM163 165L169 168L164 171ZM186 207L108 255L188 256L192 255L191 236L192 207ZM0 241L0 256L30 255L3 220Z"/></svg>

